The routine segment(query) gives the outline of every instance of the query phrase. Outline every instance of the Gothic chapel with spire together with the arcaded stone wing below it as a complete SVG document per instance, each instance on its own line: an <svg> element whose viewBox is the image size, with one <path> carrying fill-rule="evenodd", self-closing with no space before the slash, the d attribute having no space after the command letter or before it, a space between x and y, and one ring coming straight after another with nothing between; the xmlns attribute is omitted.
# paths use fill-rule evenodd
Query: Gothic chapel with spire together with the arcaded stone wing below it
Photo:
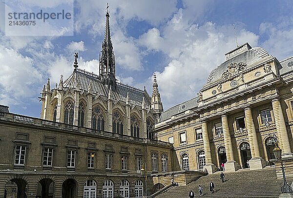
<svg viewBox="0 0 293 198"><path fill-rule="evenodd" d="M151 173L172 170L172 144L153 135L163 111L156 77L151 97L117 82L108 13L100 74L79 69L78 53L73 66L44 85L41 119L0 106L1 198L140 198L158 188Z"/></svg>

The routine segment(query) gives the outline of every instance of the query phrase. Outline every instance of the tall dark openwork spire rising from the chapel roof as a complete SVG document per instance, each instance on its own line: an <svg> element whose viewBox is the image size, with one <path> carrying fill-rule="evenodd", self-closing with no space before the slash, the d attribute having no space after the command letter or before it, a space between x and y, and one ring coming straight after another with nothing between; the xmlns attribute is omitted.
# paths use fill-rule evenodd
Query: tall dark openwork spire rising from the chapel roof
<svg viewBox="0 0 293 198"><path fill-rule="evenodd" d="M112 87L112 90L116 87L115 78L115 56L113 52L113 46L110 36L110 24L109 24L109 5L107 4L106 24L105 24L105 36L102 43L102 51L100 53L100 77L107 89Z"/></svg>

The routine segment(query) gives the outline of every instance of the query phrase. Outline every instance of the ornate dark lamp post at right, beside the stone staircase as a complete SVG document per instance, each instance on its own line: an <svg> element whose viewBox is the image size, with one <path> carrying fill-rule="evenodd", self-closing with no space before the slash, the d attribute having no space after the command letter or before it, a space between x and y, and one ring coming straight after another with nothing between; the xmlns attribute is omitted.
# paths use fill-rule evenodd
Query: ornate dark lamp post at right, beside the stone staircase
<svg viewBox="0 0 293 198"><path fill-rule="evenodd" d="M273 134L273 141L274 141L274 149L272 150L275 158L281 163L281 169L282 169L282 174L283 174L283 179L284 179L284 185L281 187L282 193L292 193L292 188L291 186L288 185L286 181L286 176L285 176L285 169L284 169L284 164L282 161L282 149L280 149L278 145L278 139L275 134Z"/></svg>

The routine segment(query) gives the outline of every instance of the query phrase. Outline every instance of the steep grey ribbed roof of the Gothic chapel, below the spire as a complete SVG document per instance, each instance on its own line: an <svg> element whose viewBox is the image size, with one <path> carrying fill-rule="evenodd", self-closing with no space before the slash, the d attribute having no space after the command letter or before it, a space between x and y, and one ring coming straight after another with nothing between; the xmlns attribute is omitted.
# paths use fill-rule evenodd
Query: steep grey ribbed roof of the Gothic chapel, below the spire
<svg viewBox="0 0 293 198"><path fill-rule="evenodd" d="M89 84L91 82L93 95L102 95L108 97L109 90L107 90L107 87L102 83L100 77L96 74L89 73L81 69L74 70L71 76L64 81L64 89L76 89L77 79L78 83L80 84L80 90L88 91ZM112 91L113 99L126 102L127 93L129 95L130 103L135 102L135 105L141 106L143 98L145 98L146 104L150 105L150 97L146 91L122 83L117 83L117 87L114 91Z"/></svg>

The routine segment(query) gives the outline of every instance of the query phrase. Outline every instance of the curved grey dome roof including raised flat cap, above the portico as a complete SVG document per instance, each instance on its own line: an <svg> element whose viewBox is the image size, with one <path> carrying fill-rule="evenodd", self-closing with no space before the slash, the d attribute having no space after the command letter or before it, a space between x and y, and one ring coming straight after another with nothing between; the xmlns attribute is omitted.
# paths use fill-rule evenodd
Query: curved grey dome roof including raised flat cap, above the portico
<svg viewBox="0 0 293 198"><path fill-rule="evenodd" d="M258 62L270 55L268 52L261 47L253 47L248 43L245 43L234 50L228 52L226 55L226 61L220 64L218 67L213 69L207 78L207 83L212 83L218 79L221 79L224 72L226 72L228 66L234 62L244 62L246 63L247 69L253 66L253 63Z"/></svg>

